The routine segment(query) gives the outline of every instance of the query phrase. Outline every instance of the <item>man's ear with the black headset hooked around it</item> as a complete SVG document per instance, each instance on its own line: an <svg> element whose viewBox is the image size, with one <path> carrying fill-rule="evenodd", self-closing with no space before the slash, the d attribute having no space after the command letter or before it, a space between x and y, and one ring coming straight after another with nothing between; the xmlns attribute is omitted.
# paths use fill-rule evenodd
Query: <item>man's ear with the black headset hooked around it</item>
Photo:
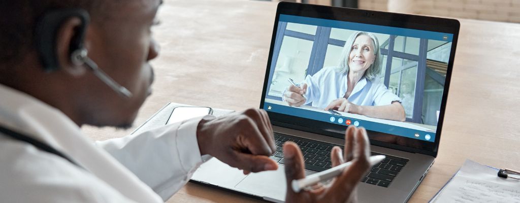
<svg viewBox="0 0 520 203"><path fill-rule="evenodd" d="M81 29L82 21L80 18L71 17L65 20L56 33L56 57L60 64L60 68L66 73L74 77L80 77L85 74L86 67L84 65L75 65L71 60L71 47L77 47L77 37L82 35L80 32L86 32Z"/></svg>

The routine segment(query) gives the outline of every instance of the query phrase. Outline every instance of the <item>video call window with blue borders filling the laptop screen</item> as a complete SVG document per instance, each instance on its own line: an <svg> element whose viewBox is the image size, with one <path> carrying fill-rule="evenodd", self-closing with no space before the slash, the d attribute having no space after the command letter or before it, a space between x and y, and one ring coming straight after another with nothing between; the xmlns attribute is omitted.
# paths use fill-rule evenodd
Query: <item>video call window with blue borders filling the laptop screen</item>
<svg viewBox="0 0 520 203"><path fill-rule="evenodd" d="M452 37L280 15L264 109L435 142Z"/></svg>

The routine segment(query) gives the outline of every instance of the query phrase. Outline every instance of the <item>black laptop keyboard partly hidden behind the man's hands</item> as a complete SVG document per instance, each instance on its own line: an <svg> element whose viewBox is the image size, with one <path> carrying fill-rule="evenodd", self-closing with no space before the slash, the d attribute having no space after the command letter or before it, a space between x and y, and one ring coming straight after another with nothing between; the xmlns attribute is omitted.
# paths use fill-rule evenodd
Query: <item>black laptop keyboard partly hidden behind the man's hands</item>
<svg viewBox="0 0 520 203"><path fill-rule="evenodd" d="M277 161L279 164L285 164L283 159L283 143L291 141L300 146L302 150L303 159L305 161L305 169L321 172L332 168L330 161L330 152L335 146L331 143L319 142L314 140L307 140L304 138L297 138L288 136L287 134L280 134L275 132L276 152L270 156L271 159ZM338 145L341 150L343 146ZM381 163L373 166L370 171L361 179L361 182L388 187L397 174L405 167L408 159L371 152L374 155L385 155L386 158Z"/></svg>

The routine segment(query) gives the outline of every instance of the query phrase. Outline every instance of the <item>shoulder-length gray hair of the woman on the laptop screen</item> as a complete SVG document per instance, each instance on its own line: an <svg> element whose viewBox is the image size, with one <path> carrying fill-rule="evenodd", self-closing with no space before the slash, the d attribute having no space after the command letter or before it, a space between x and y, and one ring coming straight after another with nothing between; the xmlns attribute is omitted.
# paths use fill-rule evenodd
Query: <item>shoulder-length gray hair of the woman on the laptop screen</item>
<svg viewBox="0 0 520 203"><path fill-rule="evenodd" d="M354 41L360 35L369 36L370 38L372 38L372 42L374 43L374 63L372 63L372 65L368 67L364 75L368 80L373 80L381 73L382 57L379 50L378 38L375 37L374 34L368 32L355 32L352 35L350 35L350 37L348 37L347 41L345 42L345 46L343 47L340 64L337 66L336 71L339 73L348 74L348 71L350 70L348 67L348 57L350 56L350 51L352 51L352 45L354 45Z"/></svg>

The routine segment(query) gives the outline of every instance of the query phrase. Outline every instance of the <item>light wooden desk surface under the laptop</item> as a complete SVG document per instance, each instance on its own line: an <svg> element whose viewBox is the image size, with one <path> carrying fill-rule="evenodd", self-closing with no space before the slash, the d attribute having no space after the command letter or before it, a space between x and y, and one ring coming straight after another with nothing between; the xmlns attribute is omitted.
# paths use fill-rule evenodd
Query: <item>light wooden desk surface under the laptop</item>
<svg viewBox="0 0 520 203"><path fill-rule="evenodd" d="M168 102L243 110L258 107L276 3L166 0L154 29L162 46L154 93L136 126ZM461 32L439 154L410 202L426 202L466 158L520 167L520 24L460 20ZM83 127L93 140L132 129ZM257 202L188 183L168 202Z"/></svg>

